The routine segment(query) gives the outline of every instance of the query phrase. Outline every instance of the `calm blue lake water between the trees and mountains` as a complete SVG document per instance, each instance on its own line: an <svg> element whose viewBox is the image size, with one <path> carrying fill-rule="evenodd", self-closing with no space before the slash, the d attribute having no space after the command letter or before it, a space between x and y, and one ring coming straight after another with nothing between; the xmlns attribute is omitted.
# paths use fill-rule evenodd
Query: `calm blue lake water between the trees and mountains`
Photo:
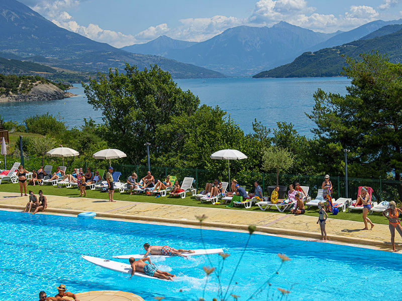
<svg viewBox="0 0 402 301"><path fill-rule="evenodd" d="M199 97L201 104L220 106L230 113L244 132L252 132L254 118L269 128L276 128L277 121L292 123L303 135L312 137L315 126L305 114L314 107L313 95L318 88L326 92L346 94L350 80L335 78L212 78L179 79L177 84L183 90L190 90ZM83 124L83 118L91 117L102 123L102 114L95 111L86 101L84 89L69 92L77 96L53 101L0 103L0 115L7 120L23 122L24 118L49 112L59 115L69 127Z"/></svg>

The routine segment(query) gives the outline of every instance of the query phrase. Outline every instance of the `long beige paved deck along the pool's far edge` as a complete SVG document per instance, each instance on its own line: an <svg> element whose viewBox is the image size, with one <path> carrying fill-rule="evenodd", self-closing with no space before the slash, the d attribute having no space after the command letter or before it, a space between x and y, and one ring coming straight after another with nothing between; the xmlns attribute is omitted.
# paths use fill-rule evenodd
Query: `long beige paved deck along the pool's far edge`
<svg viewBox="0 0 402 301"><path fill-rule="evenodd" d="M317 217L271 212L230 210L179 205L153 204L143 202L117 201L111 203L102 199L80 197L47 196L47 214L77 215L94 211L98 218L122 219L136 222L152 222L199 227L195 216L206 215L203 227L248 231L248 225L256 225L259 233L292 237L304 240L320 240ZM27 197L19 193L0 192L0 208L24 210ZM384 251L392 251L388 225L375 224L373 230L362 230L363 221L341 219L327 220L328 240L333 243L358 245ZM395 235L396 242L400 237ZM402 244L396 243L396 250L402 253Z"/></svg>

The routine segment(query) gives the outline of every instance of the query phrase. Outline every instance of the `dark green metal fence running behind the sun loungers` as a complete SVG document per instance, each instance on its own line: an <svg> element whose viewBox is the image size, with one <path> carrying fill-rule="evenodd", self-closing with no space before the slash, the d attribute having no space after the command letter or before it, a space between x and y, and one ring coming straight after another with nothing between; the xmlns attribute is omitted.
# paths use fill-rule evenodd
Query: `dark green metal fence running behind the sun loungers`
<svg viewBox="0 0 402 301"><path fill-rule="evenodd" d="M12 156L6 156L7 167L11 168L14 162L20 162L19 158ZM2 158L0 158L1 160ZM73 168L82 167L85 169L87 164L77 159L65 159L64 164L67 166L67 173L71 172ZM29 171L33 169L39 169L41 165L40 158L27 158L24 160L25 168ZM53 165L54 169L60 164L60 158L45 157L45 165ZM4 162L0 164L0 169L4 166ZM107 168L108 163L106 161L99 161L99 164L93 166L90 165L92 170L98 168ZM89 166L89 165L88 165ZM122 173L121 179L124 181L133 172L141 179L148 171L146 166L141 165L124 165L114 164L115 171ZM71 170L71 171L70 171ZM207 182L213 182L216 175L213 172L202 169L183 169L175 167L151 167L151 173L156 179L164 179L167 175L176 176L179 181L184 177L194 178L194 188L197 190L203 190ZM247 190L253 191L254 181L258 181L264 191L267 194L268 186L276 185L276 174L266 173L245 173L240 172L231 175L232 179L236 179L241 186L245 186ZM221 181L228 181L227 177L220 178ZM331 183L333 186L333 198L346 197L346 181L345 177L331 177ZM300 183L302 186L309 186L309 195L312 198L317 196L318 189L321 188L324 182L324 176L307 176L307 175L279 175L279 185L289 186L289 184ZM348 197L356 199L359 186L371 187L374 190L373 196L377 202L381 201L395 201L402 202L402 181L381 180L381 179L358 179L348 178Z"/></svg>

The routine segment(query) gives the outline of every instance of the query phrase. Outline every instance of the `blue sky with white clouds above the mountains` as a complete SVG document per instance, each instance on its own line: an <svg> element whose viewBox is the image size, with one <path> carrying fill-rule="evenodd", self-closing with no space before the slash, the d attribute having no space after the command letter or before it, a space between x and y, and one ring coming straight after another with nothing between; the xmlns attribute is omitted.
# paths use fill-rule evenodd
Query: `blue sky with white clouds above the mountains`
<svg viewBox="0 0 402 301"><path fill-rule="evenodd" d="M402 0L20 0L60 27L115 47L160 35L205 41L240 26L279 21L320 32L402 17Z"/></svg>

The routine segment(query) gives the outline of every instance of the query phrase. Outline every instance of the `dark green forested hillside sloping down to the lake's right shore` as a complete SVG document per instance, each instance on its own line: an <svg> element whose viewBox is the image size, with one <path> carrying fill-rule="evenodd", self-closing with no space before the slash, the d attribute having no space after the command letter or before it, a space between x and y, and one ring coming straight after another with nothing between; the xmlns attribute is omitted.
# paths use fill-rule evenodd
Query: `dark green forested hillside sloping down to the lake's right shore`
<svg viewBox="0 0 402 301"><path fill-rule="evenodd" d="M260 72L253 77L325 77L339 76L346 55L357 59L360 53L378 50L387 54L390 62L402 61L402 30L395 33L367 40L357 40L342 46L325 48L314 53L306 52L297 57L292 63L269 71Z"/></svg>

